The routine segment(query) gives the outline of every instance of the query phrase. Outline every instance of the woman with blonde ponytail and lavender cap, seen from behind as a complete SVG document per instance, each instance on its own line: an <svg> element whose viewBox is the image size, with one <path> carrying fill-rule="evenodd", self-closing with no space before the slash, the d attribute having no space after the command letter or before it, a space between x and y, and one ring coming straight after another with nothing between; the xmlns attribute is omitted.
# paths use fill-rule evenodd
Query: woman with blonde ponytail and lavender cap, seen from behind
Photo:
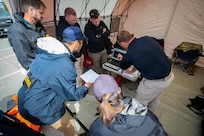
<svg viewBox="0 0 204 136"><path fill-rule="evenodd" d="M166 136L158 118L135 98L121 97L121 89L110 75L101 74L93 91L100 102L99 117L91 124L89 136Z"/></svg>

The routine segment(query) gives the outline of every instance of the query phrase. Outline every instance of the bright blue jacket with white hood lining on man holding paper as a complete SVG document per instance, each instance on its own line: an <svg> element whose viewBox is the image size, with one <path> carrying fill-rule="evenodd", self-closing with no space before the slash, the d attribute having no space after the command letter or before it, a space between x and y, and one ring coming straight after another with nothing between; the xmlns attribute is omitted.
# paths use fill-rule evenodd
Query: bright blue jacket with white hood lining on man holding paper
<svg viewBox="0 0 204 136"><path fill-rule="evenodd" d="M65 101L85 97L88 88L76 88L76 58L61 42L52 37L38 39L39 55L30 72L37 81L28 92L25 83L18 93L20 114L39 125L50 125L64 113Z"/></svg>

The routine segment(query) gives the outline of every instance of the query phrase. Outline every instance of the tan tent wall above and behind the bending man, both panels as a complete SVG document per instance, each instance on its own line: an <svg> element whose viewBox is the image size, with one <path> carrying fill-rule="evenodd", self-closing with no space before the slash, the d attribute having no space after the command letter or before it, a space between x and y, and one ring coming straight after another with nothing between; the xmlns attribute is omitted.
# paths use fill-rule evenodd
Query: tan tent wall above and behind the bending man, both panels
<svg viewBox="0 0 204 136"><path fill-rule="evenodd" d="M165 53L171 59L182 42L204 46L203 0L137 0L128 11L124 29L136 37L149 35L165 41ZM197 66L204 68L204 58Z"/></svg>

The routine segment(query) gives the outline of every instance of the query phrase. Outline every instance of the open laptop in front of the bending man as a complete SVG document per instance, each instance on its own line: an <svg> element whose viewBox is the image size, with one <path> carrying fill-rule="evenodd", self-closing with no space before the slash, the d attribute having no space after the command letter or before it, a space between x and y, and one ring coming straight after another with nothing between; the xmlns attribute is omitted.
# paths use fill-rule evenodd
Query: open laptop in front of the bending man
<svg viewBox="0 0 204 136"><path fill-rule="evenodd" d="M119 70L120 68L118 66L120 64L120 60L117 58L118 54L125 55L126 51L119 48L114 48L111 59L104 63L104 65L113 70Z"/></svg>

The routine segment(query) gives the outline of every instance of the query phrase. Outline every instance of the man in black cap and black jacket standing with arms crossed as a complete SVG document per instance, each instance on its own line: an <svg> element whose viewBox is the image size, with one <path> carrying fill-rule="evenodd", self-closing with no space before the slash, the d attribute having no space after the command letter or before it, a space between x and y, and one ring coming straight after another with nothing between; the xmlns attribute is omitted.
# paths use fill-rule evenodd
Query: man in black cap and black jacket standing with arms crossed
<svg viewBox="0 0 204 136"><path fill-rule="evenodd" d="M107 51L105 42L110 35L110 31L106 24L100 20L98 10L92 9L89 12L90 19L85 26L84 34L89 38L88 53L93 60L92 69L97 73L106 73L102 69L102 64L107 62Z"/></svg>

